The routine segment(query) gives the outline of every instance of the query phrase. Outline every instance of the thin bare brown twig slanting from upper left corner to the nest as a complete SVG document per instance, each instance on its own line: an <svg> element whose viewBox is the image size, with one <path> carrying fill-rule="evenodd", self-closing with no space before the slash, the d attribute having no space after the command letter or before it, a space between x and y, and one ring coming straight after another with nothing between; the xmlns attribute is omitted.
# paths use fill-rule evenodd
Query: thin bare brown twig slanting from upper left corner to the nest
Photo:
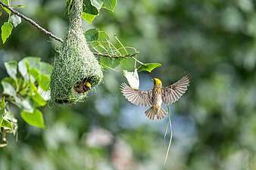
<svg viewBox="0 0 256 170"><path fill-rule="evenodd" d="M29 17L26 17L23 14L20 14L20 12L14 10L14 8L11 8L10 6L6 5L4 2L0 1L0 4L5 7L8 8L8 10L10 10L13 14L16 14L17 16L21 17L23 20L26 20L28 23L32 24L33 26L36 27L36 29L39 29L40 31L44 32L46 35L51 36L53 39L56 39L59 42L63 42L63 40L61 38L59 38L58 36L55 36L52 34L52 32L47 31L46 29L42 28L42 26L39 26L38 23L36 23L35 21L31 20Z"/></svg>

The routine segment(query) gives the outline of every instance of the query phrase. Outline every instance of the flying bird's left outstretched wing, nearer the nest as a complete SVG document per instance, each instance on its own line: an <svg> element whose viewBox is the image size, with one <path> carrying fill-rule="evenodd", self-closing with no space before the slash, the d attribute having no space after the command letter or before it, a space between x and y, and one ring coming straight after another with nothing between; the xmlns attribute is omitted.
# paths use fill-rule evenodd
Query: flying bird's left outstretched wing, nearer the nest
<svg viewBox="0 0 256 170"><path fill-rule="evenodd" d="M139 91L134 88L130 88L130 86L126 85L124 82L120 85L120 89L123 96L126 97L126 99L132 104L136 104L141 107L151 107L151 91Z"/></svg>

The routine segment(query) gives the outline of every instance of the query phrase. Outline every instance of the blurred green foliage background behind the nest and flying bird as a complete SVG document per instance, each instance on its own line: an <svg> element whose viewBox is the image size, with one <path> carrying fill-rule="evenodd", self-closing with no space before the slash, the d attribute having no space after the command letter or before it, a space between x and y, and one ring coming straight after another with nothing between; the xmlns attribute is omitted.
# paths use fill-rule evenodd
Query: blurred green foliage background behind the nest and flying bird
<svg viewBox="0 0 256 170"><path fill-rule="evenodd" d="M21 13L64 38L64 0L12 1L17 3L28 6ZM45 130L27 125L13 110L18 138L8 135L0 169L256 169L255 8L253 0L118 0L114 14L101 9L92 25L83 23L85 31L108 32L113 42L117 35L140 51L139 60L162 63L139 73L142 90L152 87L153 77L170 85L190 73L189 90L170 106L173 142L165 165L167 118L145 117L146 107L121 95L121 71L107 69L105 83L86 103L41 108ZM0 24L6 20L4 13ZM0 78L8 60L36 56L52 63L56 45L23 21L1 45ZM132 71L133 62L117 70Z"/></svg>

